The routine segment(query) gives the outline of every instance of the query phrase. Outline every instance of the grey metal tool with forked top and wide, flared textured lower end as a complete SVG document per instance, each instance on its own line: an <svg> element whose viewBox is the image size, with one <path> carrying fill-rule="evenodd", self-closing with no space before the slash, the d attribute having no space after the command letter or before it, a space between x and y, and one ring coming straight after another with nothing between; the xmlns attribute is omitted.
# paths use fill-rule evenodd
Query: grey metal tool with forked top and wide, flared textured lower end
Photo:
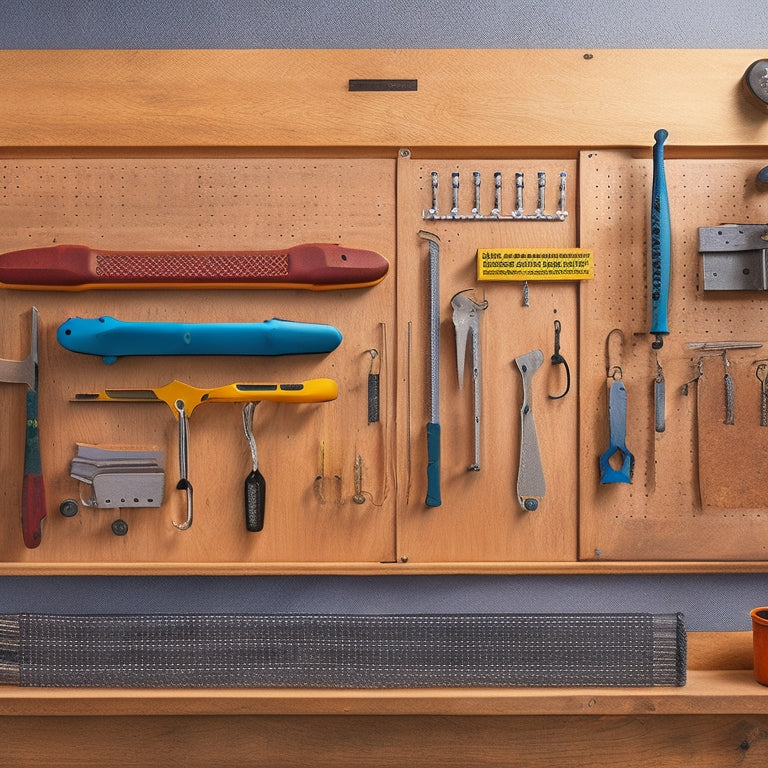
<svg viewBox="0 0 768 768"><path fill-rule="evenodd" d="M539 452L539 438L533 420L533 375L541 368L544 354L534 349L515 358L523 378L523 405L520 409L520 465L517 471L517 500L528 512L538 509L547 491Z"/></svg>

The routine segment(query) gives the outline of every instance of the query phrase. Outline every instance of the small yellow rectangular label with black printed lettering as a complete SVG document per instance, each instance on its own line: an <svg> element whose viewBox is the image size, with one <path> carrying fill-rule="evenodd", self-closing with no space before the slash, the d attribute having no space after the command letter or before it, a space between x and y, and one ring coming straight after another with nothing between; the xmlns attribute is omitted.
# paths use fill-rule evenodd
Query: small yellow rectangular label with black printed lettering
<svg viewBox="0 0 768 768"><path fill-rule="evenodd" d="M590 280L592 251L585 248L478 248L478 280Z"/></svg>

